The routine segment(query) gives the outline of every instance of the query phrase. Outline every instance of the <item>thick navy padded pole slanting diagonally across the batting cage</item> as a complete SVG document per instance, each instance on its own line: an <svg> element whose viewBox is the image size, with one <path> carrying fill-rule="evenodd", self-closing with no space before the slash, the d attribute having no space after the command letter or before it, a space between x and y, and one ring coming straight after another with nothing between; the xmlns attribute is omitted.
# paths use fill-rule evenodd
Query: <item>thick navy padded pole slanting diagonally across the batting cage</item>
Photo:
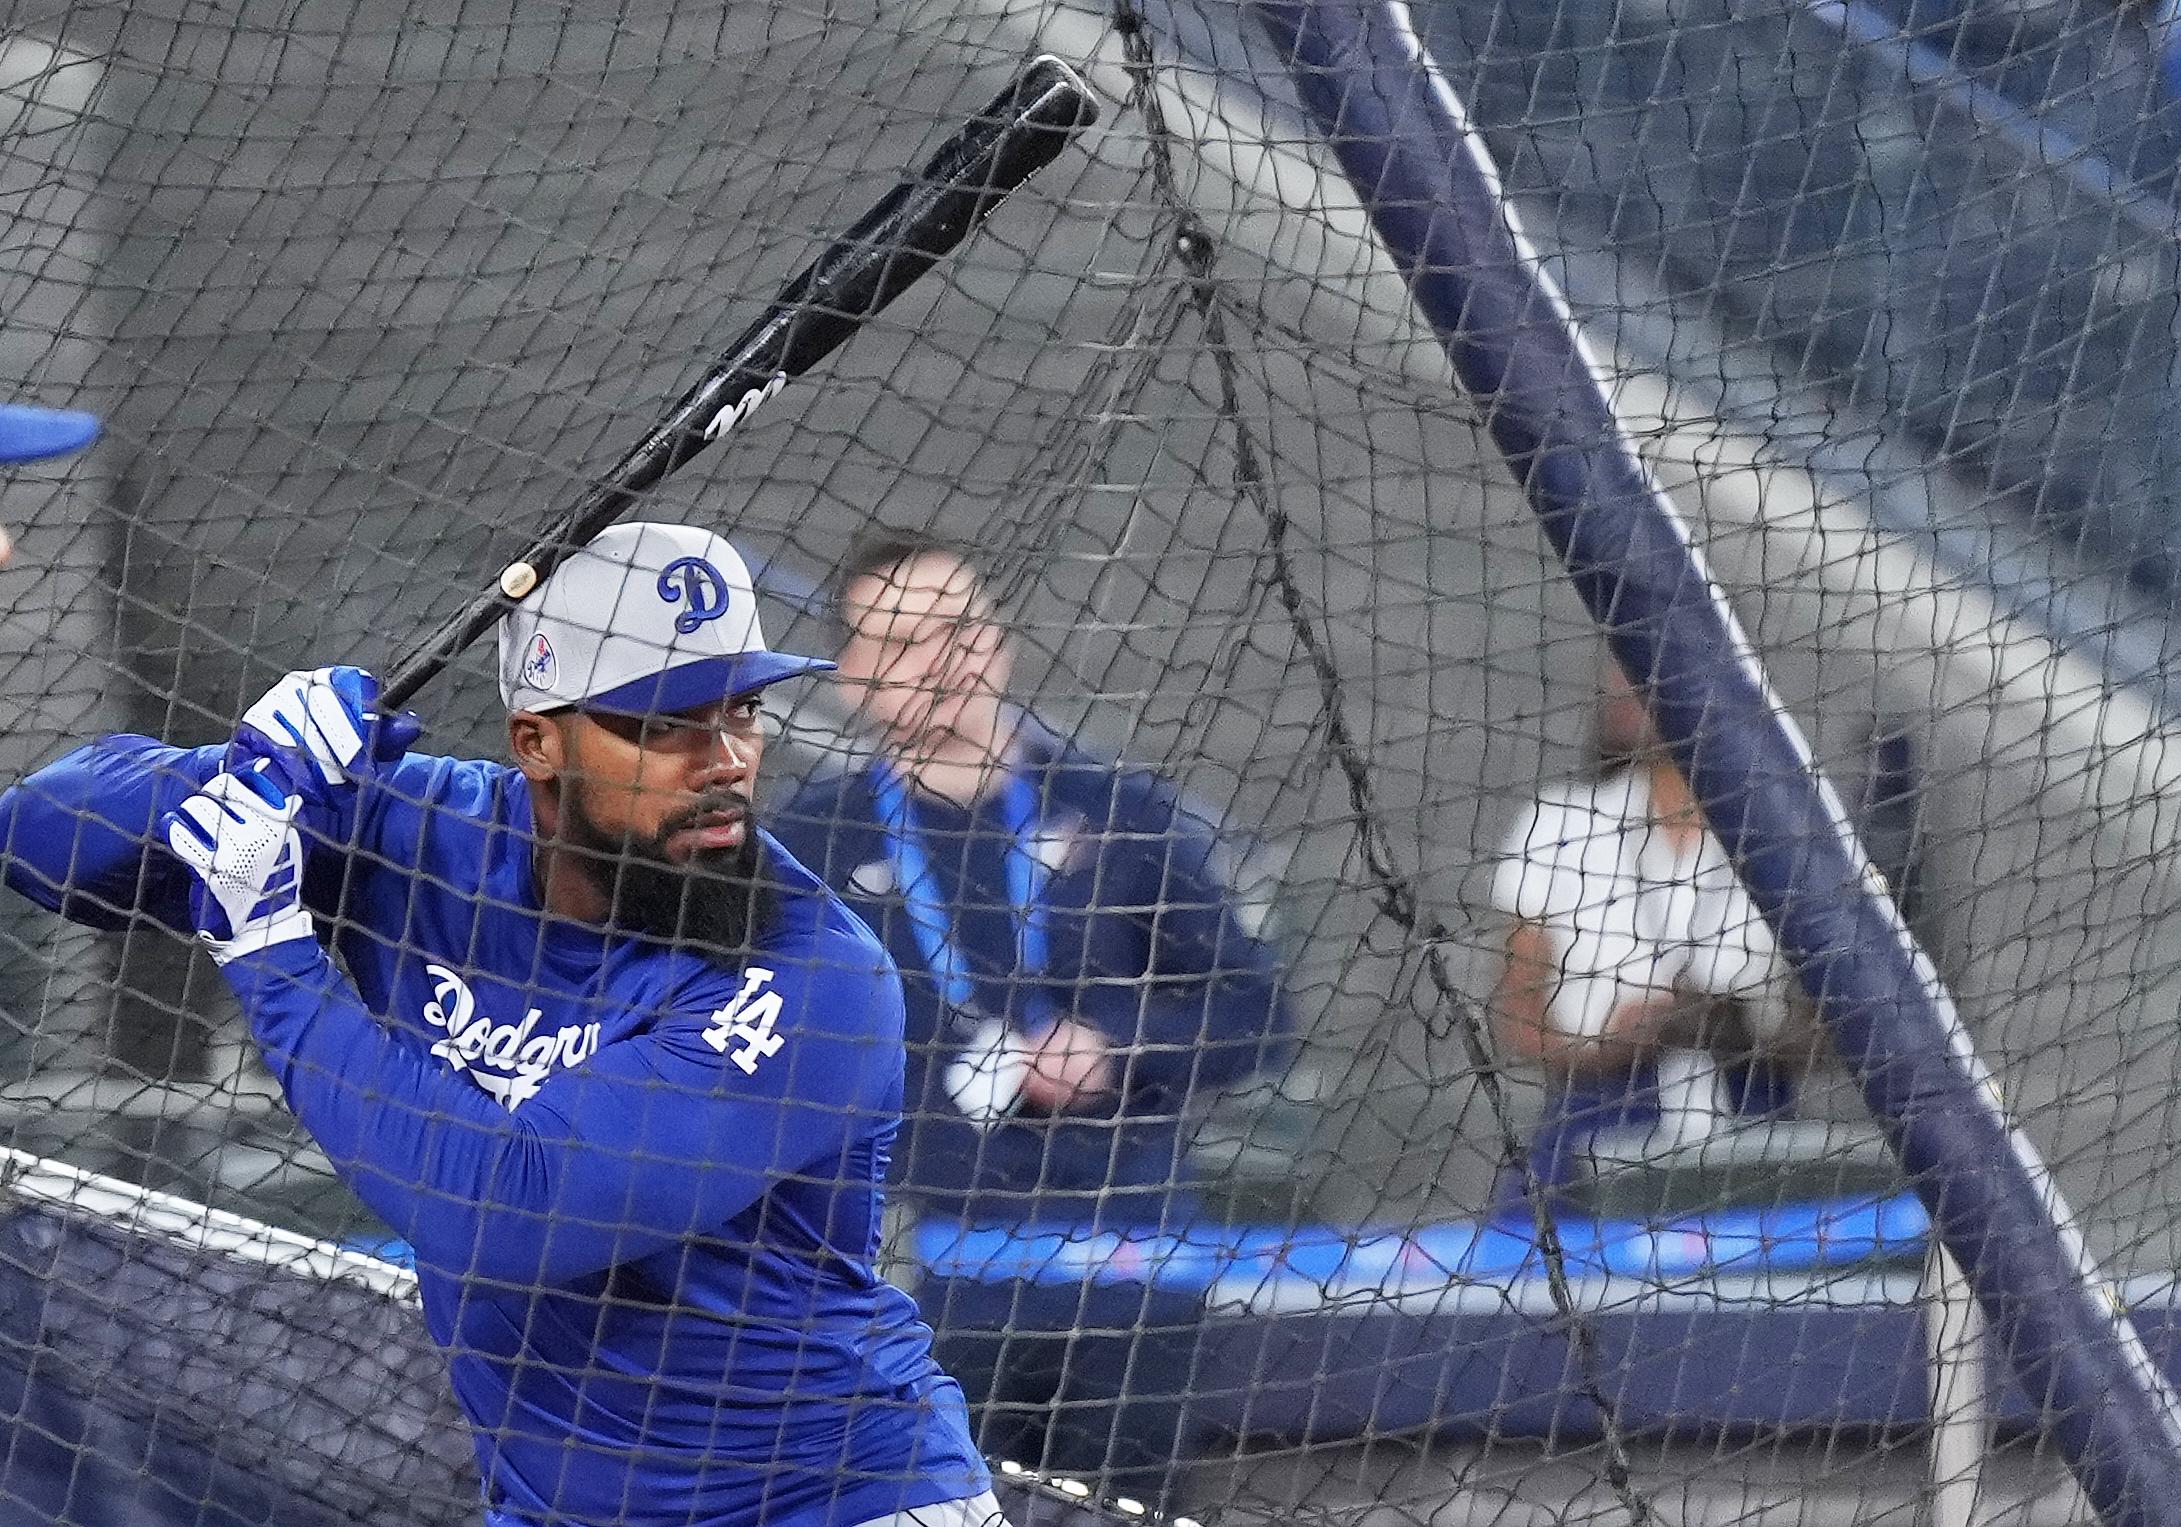
<svg viewBox="0 0 2181 1527"><path fill-rule="evenodd" d="M2181 1527L2181 1407L2007 1121L1952 999L1614 419L1483 142L1398 0L1254 0L2022 1387L2111 1527Z"/></svg>

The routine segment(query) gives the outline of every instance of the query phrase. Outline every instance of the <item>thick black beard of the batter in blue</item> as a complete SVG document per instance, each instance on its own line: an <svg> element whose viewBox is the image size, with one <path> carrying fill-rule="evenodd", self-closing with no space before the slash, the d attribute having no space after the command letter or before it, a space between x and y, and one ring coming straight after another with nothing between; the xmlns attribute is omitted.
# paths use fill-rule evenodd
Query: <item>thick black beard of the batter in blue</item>
<svg viewBox="0 0 2181 1527"><path fill-rule="evenodd" d="M733 849L676 862L667 842L698 814L665 822L656 838L611 833L576 787L561 798L561 840L576 849L576 864L606 897L613 927L670 945L744 951L772 923L779 899L766 875L757 820L744 816L746 829Z"/></svg>

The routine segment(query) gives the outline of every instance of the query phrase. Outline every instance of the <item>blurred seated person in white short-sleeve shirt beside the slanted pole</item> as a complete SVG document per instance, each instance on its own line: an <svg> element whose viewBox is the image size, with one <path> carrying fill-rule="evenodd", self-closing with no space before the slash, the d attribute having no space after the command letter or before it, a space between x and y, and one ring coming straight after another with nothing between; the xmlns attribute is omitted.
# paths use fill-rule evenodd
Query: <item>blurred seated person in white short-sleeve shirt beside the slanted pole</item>
<svg viewBox="0 0 2181 1527"><path fill-rule="evenodd" d="M1496 1030L1557 1093L1533 1147L1549 1187L1596 1128L1655 1119L1686 1143L1784 1108L1815 1036L1642 700L1603 668L1601 772L1540 790L1492 877L1507 918Z"/></svg>

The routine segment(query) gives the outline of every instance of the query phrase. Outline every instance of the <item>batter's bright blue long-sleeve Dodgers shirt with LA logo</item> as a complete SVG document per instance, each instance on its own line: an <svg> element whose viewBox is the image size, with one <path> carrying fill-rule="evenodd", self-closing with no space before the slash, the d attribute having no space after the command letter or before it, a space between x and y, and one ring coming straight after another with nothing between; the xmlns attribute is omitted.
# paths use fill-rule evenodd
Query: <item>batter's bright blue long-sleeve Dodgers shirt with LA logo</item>
<svg viewBox="0 0 2181 1527"><path fill-rule="evenodd" d="M109 737L0 794L7 881L188 927L157 822L216 750ZM766 840L742 964L550 918L515 770L410 757L310 822L314 940L227 966L297 1117L417 1248L497 1518L848 1527L988 1475L875 1272L892 960ZM373 1014L379 1014L375 1019Z"/></svg>

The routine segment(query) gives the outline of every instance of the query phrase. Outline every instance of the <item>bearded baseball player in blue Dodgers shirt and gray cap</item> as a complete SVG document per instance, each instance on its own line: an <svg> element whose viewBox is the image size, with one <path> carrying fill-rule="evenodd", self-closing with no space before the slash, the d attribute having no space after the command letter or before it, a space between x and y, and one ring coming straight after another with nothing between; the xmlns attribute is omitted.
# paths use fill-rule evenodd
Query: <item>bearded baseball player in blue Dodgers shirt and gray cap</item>
<svg viewBox="0 0 2181 1527"><path fill-rule="evenodd" d="M408 753L329 668L222 748L107 737L0 796L20 892L196 929L417 1248L491 1527L999 1518L872 1270L901 979L752 816L759 694L818 668L726 541L630 524L502 622L513 768Z"/></svg>

